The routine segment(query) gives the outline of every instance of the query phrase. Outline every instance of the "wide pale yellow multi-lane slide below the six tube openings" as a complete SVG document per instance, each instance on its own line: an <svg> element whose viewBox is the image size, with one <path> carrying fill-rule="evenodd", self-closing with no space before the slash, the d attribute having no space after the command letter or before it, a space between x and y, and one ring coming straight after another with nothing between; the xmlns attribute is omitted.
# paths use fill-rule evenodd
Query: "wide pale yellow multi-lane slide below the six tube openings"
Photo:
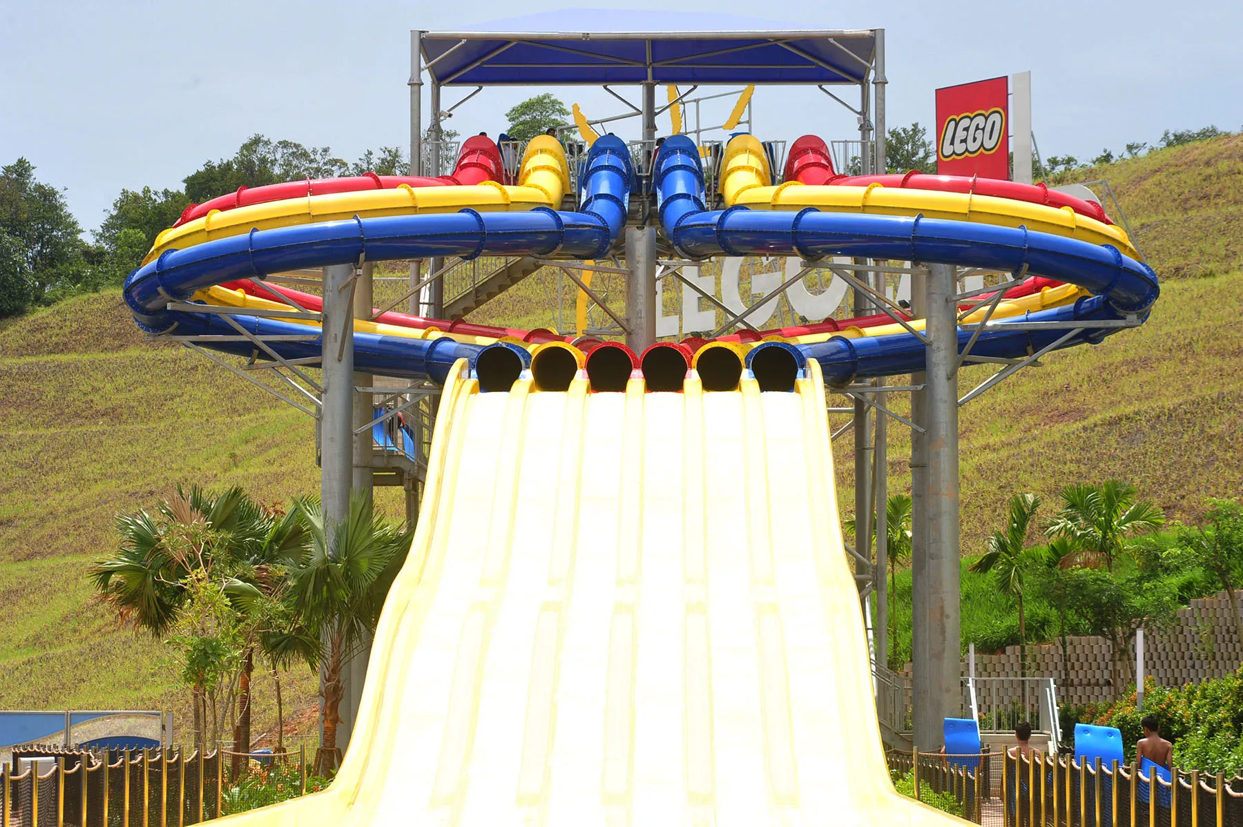
<svg viewBox="0 0 1243 827"><path fill-rule="evenodd" d="M966 823L889 781L814 363L792 394L452 374L344 766L231 825Z"/></svg>

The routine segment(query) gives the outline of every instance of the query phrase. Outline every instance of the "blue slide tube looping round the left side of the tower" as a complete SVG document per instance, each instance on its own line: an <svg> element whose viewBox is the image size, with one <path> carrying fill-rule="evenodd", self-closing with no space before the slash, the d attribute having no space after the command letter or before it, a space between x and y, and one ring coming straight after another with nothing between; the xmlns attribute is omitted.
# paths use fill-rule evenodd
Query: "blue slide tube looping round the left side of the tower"
<svg viewBox="0 0 1243 827"><path fill-rule="evenodd" d="M138 327L148 333L236 335L218 317L165 309L198 291L303 267L351 264L359 261L428 258L431 256L563 256L605 255L625 226L630 199L630 154L614 135L597 140L588 154L584 197L576 212L541 207L530 212L461 210L443 215L353 219L322 224L252 230L249 235L208 241L186 250L169 250L126 279L124 298ZM236 315L256 335L317 334L318 329L260 317ZM250 355L249 341L204 343L216 350ZM318 338L270 341L286 359L316 356ZM354 365L360 371L444 381L452 361L479 355L482 348L439 339L408 339L354 334ZM446 361L447 360L447 361Z"/></svg>

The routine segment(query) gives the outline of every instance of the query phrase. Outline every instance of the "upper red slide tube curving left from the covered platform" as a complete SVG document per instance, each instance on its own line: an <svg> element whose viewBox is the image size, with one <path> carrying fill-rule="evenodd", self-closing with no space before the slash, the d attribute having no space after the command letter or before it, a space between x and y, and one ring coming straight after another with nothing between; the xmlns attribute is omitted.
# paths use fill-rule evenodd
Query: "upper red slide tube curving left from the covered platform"
<svg viewBox="0 0 1243 827"><path fill-rule="evenodd" d="M328 195L332 192L357 192L359 190L392 190L399 186L470 186L484 181L500 181L503 174L501 150L487 135L472 135L462 142L457 154L457 165L452 175L428 178L423 175L351 175L346 178L318 178L265 186L241 186L236 192L221 195L203 204L191 204L181 212L174 227L186 221L201 219L213 210L234 210L252 204L301 199L308 195Z"/></svg>

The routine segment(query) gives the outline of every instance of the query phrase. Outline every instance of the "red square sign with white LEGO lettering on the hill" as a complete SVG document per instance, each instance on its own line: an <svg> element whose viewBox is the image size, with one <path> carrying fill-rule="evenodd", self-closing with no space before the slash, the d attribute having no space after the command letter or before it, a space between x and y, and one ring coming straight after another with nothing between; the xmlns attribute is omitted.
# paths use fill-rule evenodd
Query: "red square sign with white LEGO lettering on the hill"
<svg viewBox="0 0 1243 827"><path fill-rule="evenodd" d="M936 91L937 173L1009 178L1008 96L1006 77Z"/></svg>

